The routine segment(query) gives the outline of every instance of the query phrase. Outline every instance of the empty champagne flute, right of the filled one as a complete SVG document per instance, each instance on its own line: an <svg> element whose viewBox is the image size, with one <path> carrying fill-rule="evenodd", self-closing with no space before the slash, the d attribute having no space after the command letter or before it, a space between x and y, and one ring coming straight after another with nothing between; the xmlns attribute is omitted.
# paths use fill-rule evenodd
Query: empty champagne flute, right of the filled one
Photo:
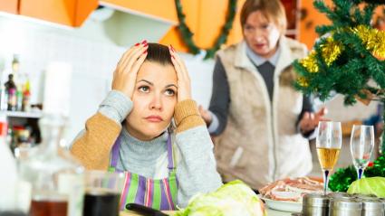
<svg viewBox="0 0 385 216"><path fill-rule="evenodd" d="M371 159L374 148L374 127L353 125L351 129L351 158L357 171L358 179L361 179L363 171Z"/></svg>

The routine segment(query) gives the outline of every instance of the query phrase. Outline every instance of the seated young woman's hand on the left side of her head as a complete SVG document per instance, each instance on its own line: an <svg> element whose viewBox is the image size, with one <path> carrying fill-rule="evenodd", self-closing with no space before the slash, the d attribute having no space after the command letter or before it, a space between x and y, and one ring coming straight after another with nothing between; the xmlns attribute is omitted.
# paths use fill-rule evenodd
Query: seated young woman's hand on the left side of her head
<svg viewBox="0 0 385 216"><path fill-rule="evenodd" d="M137 74L140 65L146 60L148 47L149 44L147 44L146 41L143 41L132 46L127 52L124 52L113 72L113 90L119 90L132 99Z"/></svg>

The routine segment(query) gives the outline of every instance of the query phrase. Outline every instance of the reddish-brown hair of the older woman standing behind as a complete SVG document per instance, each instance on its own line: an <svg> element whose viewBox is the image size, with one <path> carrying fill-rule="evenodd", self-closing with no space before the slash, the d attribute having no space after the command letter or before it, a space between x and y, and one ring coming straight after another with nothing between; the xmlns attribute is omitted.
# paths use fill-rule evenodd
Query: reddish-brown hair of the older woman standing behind
<svg viewBox="0 0 385 216"><path fill-rule="evenodd" d="M246 0L241 10L241 26L245 26L247 17L260 11L265 15L269 22L273 22L284 34L287 26L286 14L284 13L284 5L280 0Z"/></svg>

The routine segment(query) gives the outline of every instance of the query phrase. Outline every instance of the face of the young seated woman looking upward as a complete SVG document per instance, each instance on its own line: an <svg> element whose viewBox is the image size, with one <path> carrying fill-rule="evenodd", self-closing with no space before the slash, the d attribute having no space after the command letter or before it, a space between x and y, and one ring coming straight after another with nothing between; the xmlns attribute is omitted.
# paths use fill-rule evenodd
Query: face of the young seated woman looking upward
<svg viewBox="0 0 385 216"><path fill-rule="evenodd" d="M126 118L131 136L147 141L165 131L177 104L177 73L173 65L144 61L132 101L133 108Z"/></svg>

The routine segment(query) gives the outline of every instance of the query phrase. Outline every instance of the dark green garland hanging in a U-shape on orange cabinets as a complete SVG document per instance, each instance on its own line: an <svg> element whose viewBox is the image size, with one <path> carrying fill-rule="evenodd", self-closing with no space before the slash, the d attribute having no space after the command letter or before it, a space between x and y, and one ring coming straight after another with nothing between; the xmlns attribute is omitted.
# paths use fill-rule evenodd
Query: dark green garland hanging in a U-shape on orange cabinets
<svg viewBox="0 0 385 216"><path fill-rule="evenodd" d="M188 46L189 52L193 54L198 54L202 49L197 47L197 45L192 39L194 33L190 31L188 25L186 24L186 15L183 14L183 9L182 5L180 4L180 0L175 0L175 5L177 8L179 21L178 30L182 36L183 42L185 42L185 44ZM228 14L226 15L226 23L222 27L222 31L219 34L217 41L215 42L213 47L206 49L205 60L213 58L217 50L219 50L222 44L227 41L228 33L233 27L234 17L236 16L236 0L229 0L227 13Z"/></svg>

